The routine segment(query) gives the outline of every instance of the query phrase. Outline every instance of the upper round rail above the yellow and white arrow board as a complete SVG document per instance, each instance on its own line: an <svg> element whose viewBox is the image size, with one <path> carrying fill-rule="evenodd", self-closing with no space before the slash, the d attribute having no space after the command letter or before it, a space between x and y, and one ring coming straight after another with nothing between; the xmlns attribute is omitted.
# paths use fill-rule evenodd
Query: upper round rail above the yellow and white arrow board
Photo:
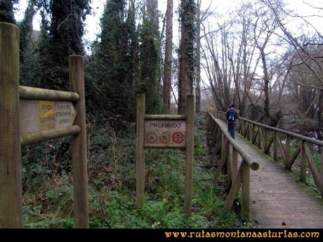
<svg viewBox="0 0 323 242"><path fill-rule="evenodd" d="M20 99L46 100L61 102L77 102L79 94L62 90L48 90L43 88L32 88L29 86L19 86Z"/></svg>

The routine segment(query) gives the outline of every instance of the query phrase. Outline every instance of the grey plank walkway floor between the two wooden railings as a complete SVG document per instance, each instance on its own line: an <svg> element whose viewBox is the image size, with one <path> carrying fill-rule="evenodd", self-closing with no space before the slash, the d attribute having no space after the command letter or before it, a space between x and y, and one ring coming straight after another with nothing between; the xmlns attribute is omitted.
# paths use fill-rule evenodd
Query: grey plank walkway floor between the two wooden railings
<svg viewBox="0 0 323 242"><path fill-rule="evenodd" d="M220 119L218 119L220 121ZM220 121L221 126L227 124ZM251 170L251 219L257 228L323 228L323 199L278 163L237 135L238 144L259 163Z"/></svg>

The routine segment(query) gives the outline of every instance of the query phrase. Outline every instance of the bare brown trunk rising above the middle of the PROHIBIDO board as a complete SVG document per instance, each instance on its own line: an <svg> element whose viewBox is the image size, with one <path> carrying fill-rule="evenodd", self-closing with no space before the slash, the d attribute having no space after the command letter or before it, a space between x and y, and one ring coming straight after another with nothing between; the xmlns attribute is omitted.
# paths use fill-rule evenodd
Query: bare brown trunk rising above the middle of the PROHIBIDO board
<svg viewBox="0 0 323 242"><path fill-rule="evenodd" d="M173 0L167 1L166 11L166 43L164 64L163 101L166 109L171 109L171 63L173 60Z"/></svg>

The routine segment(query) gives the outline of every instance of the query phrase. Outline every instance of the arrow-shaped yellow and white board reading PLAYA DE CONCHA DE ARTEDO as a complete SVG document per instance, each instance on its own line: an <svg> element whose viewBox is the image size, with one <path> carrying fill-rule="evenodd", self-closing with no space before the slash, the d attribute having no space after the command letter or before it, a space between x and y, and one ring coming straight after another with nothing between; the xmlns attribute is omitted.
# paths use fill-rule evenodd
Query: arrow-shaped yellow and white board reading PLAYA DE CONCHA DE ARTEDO
<svg viewBox="0 0 323 242"><path fill-rule="evenodd" d="M77 116L72 102L20 100L20 132L70 127Z"/></svg>

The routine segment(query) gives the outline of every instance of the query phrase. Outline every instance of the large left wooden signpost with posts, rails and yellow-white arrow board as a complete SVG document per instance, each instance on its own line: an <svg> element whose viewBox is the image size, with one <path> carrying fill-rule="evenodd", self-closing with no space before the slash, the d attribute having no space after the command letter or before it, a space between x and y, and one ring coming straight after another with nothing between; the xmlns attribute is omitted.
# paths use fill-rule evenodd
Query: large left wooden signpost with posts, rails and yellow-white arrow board
<svg viewBox="0 0 323 242"><path fill-rule="evenodd" d="M19 86L18 27L0 22L0 228L23 227L20 147L69 135L75 227L89 227L84 59L69 62L71 92Z"/></svg>

